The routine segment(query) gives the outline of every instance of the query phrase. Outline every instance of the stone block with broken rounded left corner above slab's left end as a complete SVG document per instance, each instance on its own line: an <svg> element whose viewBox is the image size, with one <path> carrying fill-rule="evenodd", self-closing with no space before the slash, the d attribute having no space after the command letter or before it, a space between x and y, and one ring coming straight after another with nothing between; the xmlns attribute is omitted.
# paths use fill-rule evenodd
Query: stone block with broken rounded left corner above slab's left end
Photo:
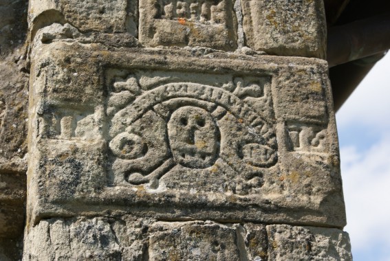
<svg viewBox="0 0 390 261"><path fill-rule="evenodd" d="M33 34L52 23L70 23L80 32L138 34L138 1L32 0L29 12Z"/></svg>

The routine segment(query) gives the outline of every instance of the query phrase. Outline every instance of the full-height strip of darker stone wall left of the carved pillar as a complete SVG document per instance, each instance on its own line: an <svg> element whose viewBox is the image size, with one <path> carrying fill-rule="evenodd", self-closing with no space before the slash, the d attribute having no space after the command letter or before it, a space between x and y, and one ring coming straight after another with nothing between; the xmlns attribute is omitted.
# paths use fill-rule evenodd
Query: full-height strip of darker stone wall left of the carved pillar
<svg viewBox="0 0 390 261"><path fill-rule="evenodd" d="M0 260L18 260L25 219L27 1L0 1Z"/></svg>

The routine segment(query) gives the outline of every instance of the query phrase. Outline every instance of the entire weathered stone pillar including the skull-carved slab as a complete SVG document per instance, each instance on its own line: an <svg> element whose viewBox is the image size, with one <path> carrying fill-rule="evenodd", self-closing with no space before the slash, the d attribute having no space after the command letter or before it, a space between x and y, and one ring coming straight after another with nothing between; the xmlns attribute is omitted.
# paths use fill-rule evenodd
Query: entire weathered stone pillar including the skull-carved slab
<svg viewBox="0 0 390 261"><path fill-rule="evenodd" d="M322 1L32 0L28 25L28 113L1 114L23 260L351 260Z"/></svg>

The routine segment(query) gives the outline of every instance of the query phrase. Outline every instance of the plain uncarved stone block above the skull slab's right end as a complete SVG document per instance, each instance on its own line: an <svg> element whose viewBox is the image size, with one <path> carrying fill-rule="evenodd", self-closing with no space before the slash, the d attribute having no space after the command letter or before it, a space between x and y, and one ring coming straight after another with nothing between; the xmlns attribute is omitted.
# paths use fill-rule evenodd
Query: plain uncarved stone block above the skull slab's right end
<svg viewBox="0 0 390 261"><path fill-rule="evenodd" d="M242 0L248 47L267 54L325 58L322 0Z"/></svg>

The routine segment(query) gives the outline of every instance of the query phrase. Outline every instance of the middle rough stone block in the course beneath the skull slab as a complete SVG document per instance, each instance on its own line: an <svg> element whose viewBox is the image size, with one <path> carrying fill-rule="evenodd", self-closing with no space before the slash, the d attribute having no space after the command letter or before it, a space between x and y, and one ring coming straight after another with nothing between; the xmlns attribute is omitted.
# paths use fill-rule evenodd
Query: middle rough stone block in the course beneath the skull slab
<svg viewBox="0 0 390 261"><path fill-rule="evenodd" d="M149 260L240 260L235 227L216 223L155 223Z"/></svg>

